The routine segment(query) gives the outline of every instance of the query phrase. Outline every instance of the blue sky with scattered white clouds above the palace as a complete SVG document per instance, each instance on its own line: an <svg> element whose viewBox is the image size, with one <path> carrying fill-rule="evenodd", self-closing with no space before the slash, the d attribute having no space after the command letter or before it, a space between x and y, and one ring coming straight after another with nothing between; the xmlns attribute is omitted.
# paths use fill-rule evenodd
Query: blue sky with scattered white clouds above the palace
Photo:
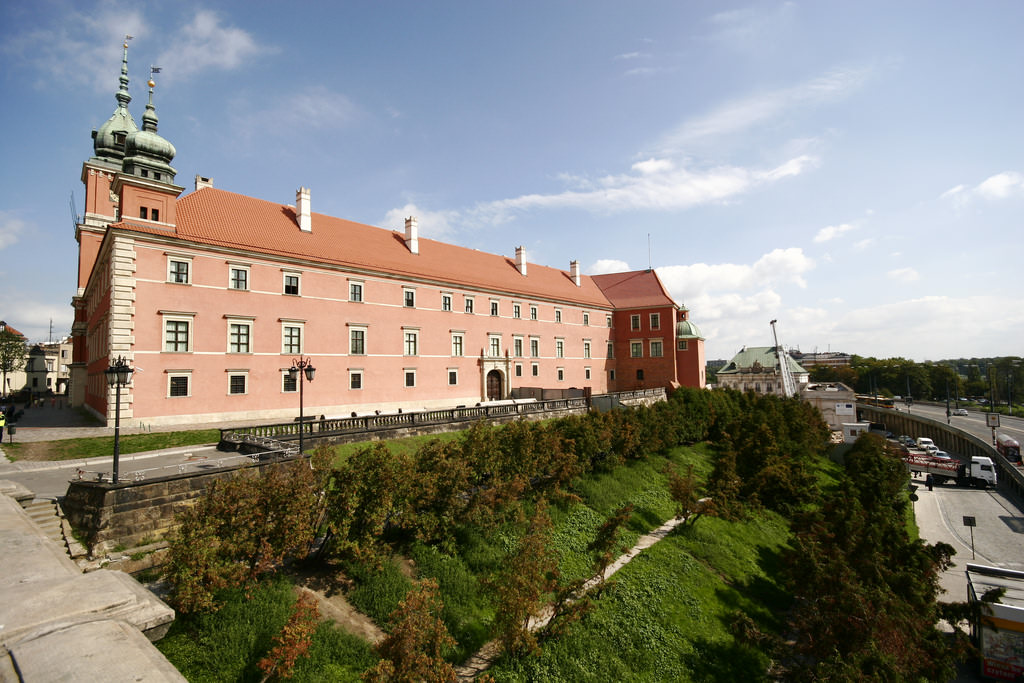
<svg viewBox="0 0 1024 683"><path fill-rule="evenodd" d="M709 358L1019 355L1020 2L0 8L0 316L71 330L90 132L159 66L178 184L586 272L657 269Z"/></svg>

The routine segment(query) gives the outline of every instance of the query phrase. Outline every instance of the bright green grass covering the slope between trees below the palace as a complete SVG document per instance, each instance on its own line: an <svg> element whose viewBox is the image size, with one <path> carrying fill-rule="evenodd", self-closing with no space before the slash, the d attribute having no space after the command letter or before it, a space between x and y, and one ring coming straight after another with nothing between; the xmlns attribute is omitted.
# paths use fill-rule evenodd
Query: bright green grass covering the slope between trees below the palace
<svg viewBox="0 0 1024 683"><path fill-rule="evenodd" d="M711 470L706 447L677 449L668 459L631 462L611 473L579 482L581 502L554 505L554 544L566 579L590 574L587 544L607 515L626 502L636 512L623 546L674 514L662 469L666 462L685 471L694 465L698 479ZM828 464L822 464L825 472ZM828 475L825 473L824 478ZM701 518L681 532L645 551L614 577L614 586L596 602L595 610L539 657L503 660L492 671L499 681L716 681L762 680L768 667L759 651L737 644L728 625L736 610L760 628L777 631L775 615L786 596L776 583L777 558L788 530L773 514L743 522ZM441 588L449 630L460 645L453 660L462 660L488 639L493 607L481 586L515 546L512 527L483 533L463 529L459 553L447 556L420 544L408 549L421 577L433 577ZM353 570L356 587L349 599L386 624L410 582L396 564L380 573ZM276 600L290 604L292 598ZM255 663L287 618L287 608L247 603L241 596L220 617L179 620L159 646L195 681L258 680ZM246 605L251 605L247 607ZM251 613L250 610L255 610ZM261 616L269 612L271 617ZM225 632L230 635L225 637ZM230 652L217 654L215 643ZM191 643L191 645L189 645ZM317 633L314 659L300 666L296 681L357 680L375 655L365 643L325 627ZM314 665L315 663L315 665Z"/></svg>

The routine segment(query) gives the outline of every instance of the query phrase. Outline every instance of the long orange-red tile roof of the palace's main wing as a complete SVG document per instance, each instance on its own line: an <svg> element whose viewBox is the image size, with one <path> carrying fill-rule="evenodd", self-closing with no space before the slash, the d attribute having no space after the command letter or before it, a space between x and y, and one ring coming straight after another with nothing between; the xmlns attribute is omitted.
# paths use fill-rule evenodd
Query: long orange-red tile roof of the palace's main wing
<svg viewBox="0 0 1024 683"><path fill-rule="evenodd" d="M611 305L593 278L581 278L581 287L577 287L568 271L536 263L527 264L527 274L523 276L513 258L424 238L419 240L420 253L413 254L402 232L319 213L312 213L312 230L304 232L299 229L294 207L214 187L204 187L179 199L176 212L177 237L200 245L435 281L452 287L552 298L595 307ZM116 227L151 234L168 233L159 226L134 221L124 221Z"/></svg>

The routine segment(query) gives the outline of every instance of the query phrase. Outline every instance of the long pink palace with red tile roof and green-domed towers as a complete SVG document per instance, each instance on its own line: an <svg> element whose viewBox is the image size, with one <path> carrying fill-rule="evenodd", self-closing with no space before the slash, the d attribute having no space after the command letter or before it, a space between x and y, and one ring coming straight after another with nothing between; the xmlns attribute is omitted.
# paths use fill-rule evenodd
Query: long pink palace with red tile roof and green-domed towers
<svg viewBox="0 0 1024 683"><path fill-rule="evenodd" d="M119 357L129 424L291 419L299 358L316 368L306 412L328 417L703 385L703 339L651 270L588 276L420 238L415 217L355 223L305 187L290 205L196 176L182 196L154 84L139 129L127 73L125 47L82 169L74 404L113 421Z"/></svg>

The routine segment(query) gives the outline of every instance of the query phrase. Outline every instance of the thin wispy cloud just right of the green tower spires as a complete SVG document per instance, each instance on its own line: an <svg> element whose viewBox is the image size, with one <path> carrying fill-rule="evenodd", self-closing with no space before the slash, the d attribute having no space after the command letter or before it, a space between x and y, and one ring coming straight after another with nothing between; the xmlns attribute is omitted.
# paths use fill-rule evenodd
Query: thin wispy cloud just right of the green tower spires
<svg viewBox="0 0 1024 683"><path fill-rule="evenodd" d="M209 69L230 71L268 48L248 32L222 26L216 12L201 9L191 23L182 27L161 53L159 66L164 78L179 80Z"/></svg>

